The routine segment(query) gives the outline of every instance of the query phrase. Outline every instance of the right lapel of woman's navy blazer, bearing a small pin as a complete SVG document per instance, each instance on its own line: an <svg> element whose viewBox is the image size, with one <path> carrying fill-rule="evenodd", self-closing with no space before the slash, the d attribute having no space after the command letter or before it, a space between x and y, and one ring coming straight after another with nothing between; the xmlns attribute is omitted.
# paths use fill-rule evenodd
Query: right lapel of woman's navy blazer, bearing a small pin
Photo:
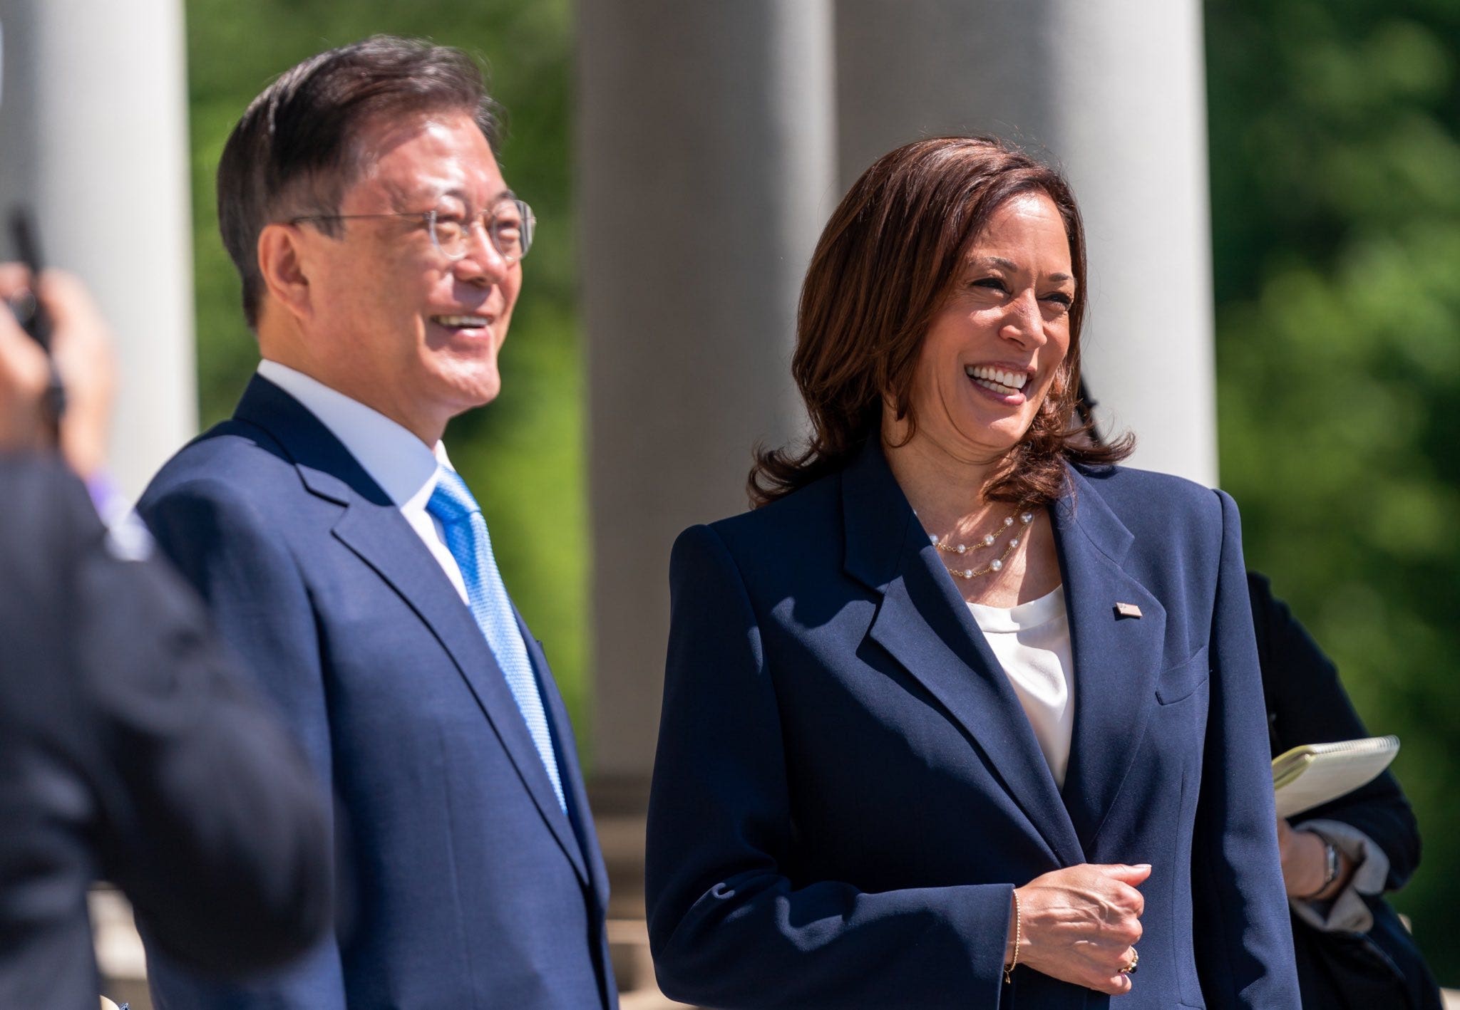
<svg viewBox="0 0 1460 1010"><path fill-rule="evenodd" d="M1070 473L1073 492L1050 512L1075 657L1075 731L1063 800L1091 851L1155 706L1167 612L1121 568L1132 533L1092 482ZM1134 604L1139 617L1117 604Z"/></svg>

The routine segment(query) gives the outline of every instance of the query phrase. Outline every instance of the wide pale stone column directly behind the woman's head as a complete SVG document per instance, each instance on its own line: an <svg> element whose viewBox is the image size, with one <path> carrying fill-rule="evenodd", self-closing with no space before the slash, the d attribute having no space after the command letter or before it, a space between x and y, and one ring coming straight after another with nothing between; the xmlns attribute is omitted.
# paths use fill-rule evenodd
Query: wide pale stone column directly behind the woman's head
<svg viewBox="0 0 1460 1010"><path fill-rule="evenodd" d="M920 136L994 133L1063 166L1089 244L1085 378L1133 466L1216 480L1197 0L837 0L848 185Z"/></svg>

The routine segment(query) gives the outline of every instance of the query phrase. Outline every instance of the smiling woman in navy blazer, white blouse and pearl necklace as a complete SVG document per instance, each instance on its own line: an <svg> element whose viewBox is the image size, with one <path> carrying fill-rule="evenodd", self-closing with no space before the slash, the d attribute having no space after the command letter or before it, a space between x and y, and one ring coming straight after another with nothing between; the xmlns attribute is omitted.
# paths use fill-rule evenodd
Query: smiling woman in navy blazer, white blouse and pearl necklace
<svg viewBox="0 0 1460 1010"><path fill-rule="evenodd" d="M669 995L1298 1006L1237 509L1075 420L1085 292L1067 184L997 140L834 213L809 444L670 562Z"/></svg>

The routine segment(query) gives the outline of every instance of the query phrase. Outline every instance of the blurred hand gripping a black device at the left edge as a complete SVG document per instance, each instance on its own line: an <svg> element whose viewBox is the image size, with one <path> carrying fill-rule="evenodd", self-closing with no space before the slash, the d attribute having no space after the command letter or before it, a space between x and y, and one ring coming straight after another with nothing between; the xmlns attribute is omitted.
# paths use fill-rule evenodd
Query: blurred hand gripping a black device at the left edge
<svg viewBox="0 0 1460 1010"><path fill-rule="evenodd" d="M0 264L0 299L28 286L25 267ZM67 273L41 274L36 296L51 315L51 356L66 385L57 448L76 473L89 477L107 457L115 388L111 331L86 289ZM0 450L51 447L44 407L48 382L45 352L0 308Z"/></svg>

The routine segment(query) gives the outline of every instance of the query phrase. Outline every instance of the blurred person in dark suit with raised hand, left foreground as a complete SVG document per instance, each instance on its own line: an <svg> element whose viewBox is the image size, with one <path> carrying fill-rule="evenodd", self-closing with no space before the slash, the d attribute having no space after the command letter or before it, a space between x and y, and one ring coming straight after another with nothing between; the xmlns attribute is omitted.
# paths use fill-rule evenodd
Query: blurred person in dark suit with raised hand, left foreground
<svg viewBox="0 0 1460 1010"><path fill-rule="evenodd" d="M0 299L29 283L0 266ZM107 327L66 274L39 298L69 397L58 447L45 355L0 304L0 1006L95 1010L93 880L180 962L257 971L330 918L328 820L191 590L108 537L77 479L99 486Z"/></svg>

